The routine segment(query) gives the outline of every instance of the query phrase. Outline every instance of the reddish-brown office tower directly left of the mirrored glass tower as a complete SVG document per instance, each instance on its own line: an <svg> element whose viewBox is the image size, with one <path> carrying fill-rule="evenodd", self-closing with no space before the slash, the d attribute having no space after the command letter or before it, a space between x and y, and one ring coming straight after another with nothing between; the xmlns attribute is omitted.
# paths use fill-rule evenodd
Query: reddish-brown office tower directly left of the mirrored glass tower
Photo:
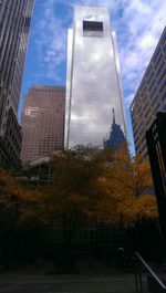
<svg viewBox="0 0 166 293"><path fill-rule="evenodd" d="M37 85L29 90L21 116L23 163L63 149L64 112L64 86Z"/></svg>

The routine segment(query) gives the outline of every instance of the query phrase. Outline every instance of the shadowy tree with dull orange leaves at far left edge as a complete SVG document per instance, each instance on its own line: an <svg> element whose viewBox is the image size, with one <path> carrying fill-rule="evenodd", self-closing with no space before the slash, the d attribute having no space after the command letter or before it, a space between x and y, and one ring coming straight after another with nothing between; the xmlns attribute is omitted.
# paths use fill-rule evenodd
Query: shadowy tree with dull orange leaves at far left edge
<svg viewBox="0 0 166 293"><path fill-rule="evenodd" d="M9 259L25 252L42 222L42 193L23 184L17 174L0 169L0 252ZM34 233L35 231L35 233ZM33 247L35 243L33 241Z"/></svg>

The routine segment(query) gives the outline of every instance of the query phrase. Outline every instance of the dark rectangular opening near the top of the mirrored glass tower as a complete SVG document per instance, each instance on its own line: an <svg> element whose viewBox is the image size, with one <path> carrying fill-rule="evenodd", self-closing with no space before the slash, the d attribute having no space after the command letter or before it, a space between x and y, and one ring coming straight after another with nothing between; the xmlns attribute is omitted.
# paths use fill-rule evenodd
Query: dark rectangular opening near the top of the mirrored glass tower
<svg viewBox="0 0 166 293"><path fill-rule="evenodd" d="M84 36L102 36L103 22L83 20L83 35Z"/></svg>

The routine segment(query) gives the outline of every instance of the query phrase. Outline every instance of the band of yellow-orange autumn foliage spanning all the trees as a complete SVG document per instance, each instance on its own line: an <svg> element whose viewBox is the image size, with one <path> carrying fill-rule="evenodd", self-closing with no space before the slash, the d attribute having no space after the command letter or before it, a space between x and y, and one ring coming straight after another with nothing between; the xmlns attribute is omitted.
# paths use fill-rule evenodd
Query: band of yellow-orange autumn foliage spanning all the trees
<svg viewBox="0 0 166 293"><path fill-rule="evenodd" d="M69 226L93 219L112 227L157 218L149 164L129 157L126 147L98 150L77 147L52 158L53 182L41 188L0 170L0 222ZM63 227L64 228L64 227Z"/></svg>

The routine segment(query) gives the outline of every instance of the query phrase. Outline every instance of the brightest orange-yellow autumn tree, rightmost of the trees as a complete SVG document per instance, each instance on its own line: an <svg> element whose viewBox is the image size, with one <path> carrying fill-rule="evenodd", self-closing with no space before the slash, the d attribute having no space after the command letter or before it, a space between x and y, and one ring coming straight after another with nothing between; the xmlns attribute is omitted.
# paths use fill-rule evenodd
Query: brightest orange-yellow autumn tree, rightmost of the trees
<svg viewBox="0 0 166 293"><path fill-rule="evenodd" d="M128 223L138 218L158 218L155 196L149 193L153 180L147 159L131 159L124 147L116 149L103 184L115 201L116 212Z"/></svg>

